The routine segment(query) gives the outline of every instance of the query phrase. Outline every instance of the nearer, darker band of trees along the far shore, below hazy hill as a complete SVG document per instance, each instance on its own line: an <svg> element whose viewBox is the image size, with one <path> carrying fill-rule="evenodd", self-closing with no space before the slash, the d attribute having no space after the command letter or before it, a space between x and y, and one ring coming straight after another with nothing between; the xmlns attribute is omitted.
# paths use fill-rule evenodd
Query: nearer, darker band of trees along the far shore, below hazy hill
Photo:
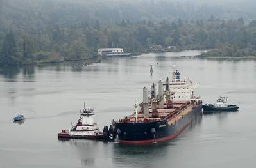
<svg viewBox="0 0 256 168"><path fill-rule="evenodd" d="M178 20L169 22L123 20L115 24L80 24L46 27L37 31L6 31L0 40L1 64L96 57L100 47L123 47L126 52L148 52L150 45L178 49L214 49L209 57L256 56L256 21L243 19Z"/></svg>

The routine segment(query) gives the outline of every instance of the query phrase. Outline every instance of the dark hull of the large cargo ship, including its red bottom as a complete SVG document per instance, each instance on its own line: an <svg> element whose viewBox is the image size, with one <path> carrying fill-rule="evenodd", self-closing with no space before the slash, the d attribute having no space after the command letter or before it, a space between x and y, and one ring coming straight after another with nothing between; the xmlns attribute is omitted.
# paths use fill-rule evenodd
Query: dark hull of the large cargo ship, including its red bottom
<svg viewBox="0 0 256 168"><path fill-rule="evenodd" d="M168 125L166 119L149 123L114 123L114 132L121 143L164 142L179 135L199 115L201 115L201 105L198 105L173 125Z"/></svg>

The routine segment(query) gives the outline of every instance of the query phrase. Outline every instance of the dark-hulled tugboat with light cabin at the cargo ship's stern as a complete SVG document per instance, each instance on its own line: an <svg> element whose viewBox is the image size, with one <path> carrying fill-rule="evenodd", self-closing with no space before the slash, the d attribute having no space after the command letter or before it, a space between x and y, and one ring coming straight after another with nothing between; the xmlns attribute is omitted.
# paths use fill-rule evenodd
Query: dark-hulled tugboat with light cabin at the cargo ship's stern
<svg viewBox="0 0 256 168"><path fill-rule="evenodd" d="M203 105L204 112L238 111L239 106L228 105L227 97L219 96L216 103Z"/></svg>

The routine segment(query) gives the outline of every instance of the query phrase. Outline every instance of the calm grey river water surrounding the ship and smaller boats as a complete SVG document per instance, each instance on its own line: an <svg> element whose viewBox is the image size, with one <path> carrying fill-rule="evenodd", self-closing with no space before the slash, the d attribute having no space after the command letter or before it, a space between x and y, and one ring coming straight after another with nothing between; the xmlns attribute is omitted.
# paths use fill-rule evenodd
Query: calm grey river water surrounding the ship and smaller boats
<svg viewBox="0 0 256 168"><path fill-rule="evenodd" d="M145 54L82 68L1 68L0 167L254 167L256 61L181 57L197 54ZM76 123L83 102L94 107L101 130L128 116L135 98L141 102L142 88L165 79L173 64L200 83L196 95L204 103L225 95L239 112L203 115L176 139L149 146L58 140L58 132ZM26 120L13 123L19 113Z"/></svg>

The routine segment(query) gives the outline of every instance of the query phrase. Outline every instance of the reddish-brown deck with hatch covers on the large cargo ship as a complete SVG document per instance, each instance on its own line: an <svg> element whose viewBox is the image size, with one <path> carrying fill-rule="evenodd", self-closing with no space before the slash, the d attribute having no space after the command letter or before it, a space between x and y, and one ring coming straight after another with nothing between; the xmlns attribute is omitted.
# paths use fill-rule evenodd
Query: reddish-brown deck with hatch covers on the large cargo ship
<svg viewBox="0 0 256 168"><path fill-rule="evenodd" d="M188 101L175 101L173 102L173 108L167 108L167 105L164 104L163 109L157 109L158 117L152 116L151 106L149 106L149 117L144 118L144 114L142 111L138 112L137 119L139 123L153 122L153 121L161 121L163 119L167 119L169 125L175 124L180 118L187 115L190 111L192 111L193 105ZM136 122L136 114L133 113L130 116L120 119L119 123L135 123Z"/></svg>

